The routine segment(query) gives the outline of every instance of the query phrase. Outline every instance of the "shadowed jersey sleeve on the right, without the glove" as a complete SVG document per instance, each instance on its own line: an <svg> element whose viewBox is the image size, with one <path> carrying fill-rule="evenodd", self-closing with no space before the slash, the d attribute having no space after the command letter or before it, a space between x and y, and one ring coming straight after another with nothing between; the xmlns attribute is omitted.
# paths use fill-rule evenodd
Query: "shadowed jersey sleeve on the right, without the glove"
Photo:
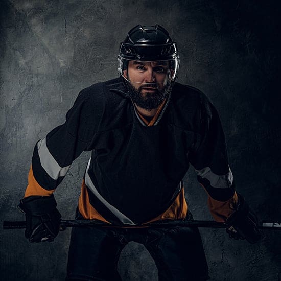
<svg viewBox="0 0 281 281"><path fill-rule="evenodd" d="M233 176L228 165L225 137L219 114L202 94L200 131L190 153L197 179L208 194L208 208L216 221L224 222L237 204Z"/></svg>

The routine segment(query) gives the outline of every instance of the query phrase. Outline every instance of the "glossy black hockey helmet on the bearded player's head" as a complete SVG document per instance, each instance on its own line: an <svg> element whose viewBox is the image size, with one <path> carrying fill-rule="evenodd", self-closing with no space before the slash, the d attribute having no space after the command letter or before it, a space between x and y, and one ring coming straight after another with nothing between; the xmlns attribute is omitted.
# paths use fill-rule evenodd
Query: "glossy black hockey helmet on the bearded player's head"
<svg viewBox="0 0 281 281"><path fill-rule="evenodd" d="M160 25L155 27L137 25L132 28L124 42L120 44L118 59L120 62L119 71L122 76L123 71L128 67L128 61L131 60L168 61L172 70L169 80L174 81L177 77L179 68L177 45L169 36L168 31Z"/></svg>

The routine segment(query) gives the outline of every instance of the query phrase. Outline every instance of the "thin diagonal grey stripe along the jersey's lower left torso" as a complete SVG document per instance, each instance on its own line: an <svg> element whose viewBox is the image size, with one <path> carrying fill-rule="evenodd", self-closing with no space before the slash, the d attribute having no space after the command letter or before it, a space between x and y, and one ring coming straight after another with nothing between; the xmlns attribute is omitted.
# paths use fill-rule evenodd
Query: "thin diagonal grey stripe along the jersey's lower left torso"
<svg viewBox="0 0 281 281"><path fill-rule="evenodd" d="M133 221L131 221L128 217L126 217L124 214L122 214L118 209L110 205L97 191L95 185L92 183L92 180L90 179L90 176L88 174L88 170L90 167L90 161L88 162L88 166L86 169L85 174L85 184L88 186L88 188L91 190L91 192L113 213L121 222L126 224L135 225Z"/></svg>

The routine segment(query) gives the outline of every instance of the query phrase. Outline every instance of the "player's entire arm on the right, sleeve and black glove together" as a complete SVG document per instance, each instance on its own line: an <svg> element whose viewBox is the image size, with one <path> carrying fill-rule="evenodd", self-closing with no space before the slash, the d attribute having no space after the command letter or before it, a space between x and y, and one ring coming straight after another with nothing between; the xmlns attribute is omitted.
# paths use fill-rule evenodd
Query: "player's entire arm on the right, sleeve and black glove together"
<svg viewBox="0 0 281 281"><path fill-rule="evenodd" d="M214 105L203 94L198 115L200 130L189 157L208 194L210 213L216 221L228 224L235 238L255 242L259 239L256 220L244 198L236 193L221 121Z"/></svg>

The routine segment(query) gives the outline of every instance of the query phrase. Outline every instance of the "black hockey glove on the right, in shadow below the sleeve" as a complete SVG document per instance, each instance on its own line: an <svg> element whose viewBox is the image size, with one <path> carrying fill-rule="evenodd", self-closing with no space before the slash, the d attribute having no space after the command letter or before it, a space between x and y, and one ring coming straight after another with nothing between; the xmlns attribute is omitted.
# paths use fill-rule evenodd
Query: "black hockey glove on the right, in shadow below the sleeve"
<svg viewBox="0 0 281 281"><path fill-rule="evenodd" d="M239 193L237 195L236 210L225 221L228 226L226 232L230 238L246 239L250 243L256 243L261 239L261 233L257 229L256 215L249 208L245 199Z"/></svg>

